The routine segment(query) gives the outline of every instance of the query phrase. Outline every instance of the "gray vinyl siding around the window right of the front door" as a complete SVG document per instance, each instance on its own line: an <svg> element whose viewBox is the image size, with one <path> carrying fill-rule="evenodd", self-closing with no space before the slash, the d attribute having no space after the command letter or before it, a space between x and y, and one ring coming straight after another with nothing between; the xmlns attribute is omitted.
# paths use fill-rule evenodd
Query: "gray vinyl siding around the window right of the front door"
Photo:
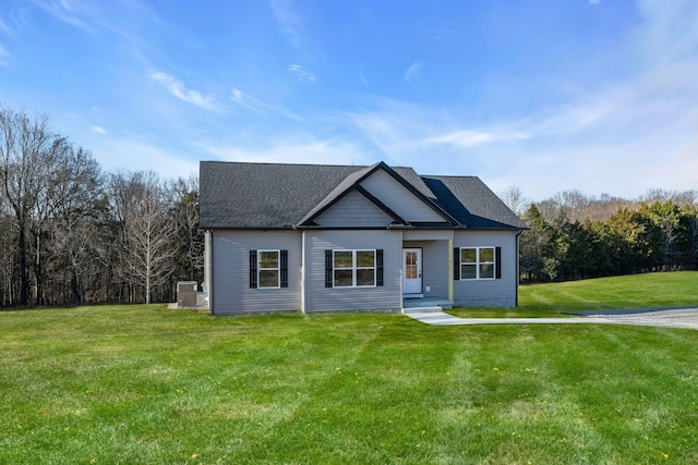
<svg viewBox="0 0 698 465"><path fill-rule="evenodd" d="M502 247L502 279L454 281L454 304L516 306L516 231L457 231L454 247ZM456 257L454 257L456 259Z"/></svg>

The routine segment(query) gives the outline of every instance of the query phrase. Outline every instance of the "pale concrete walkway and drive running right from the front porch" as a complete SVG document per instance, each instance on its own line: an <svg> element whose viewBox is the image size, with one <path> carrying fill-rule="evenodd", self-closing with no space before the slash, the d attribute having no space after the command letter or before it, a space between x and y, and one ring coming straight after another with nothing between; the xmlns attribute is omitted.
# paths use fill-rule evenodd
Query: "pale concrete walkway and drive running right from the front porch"
<svg viewBox="0 0 698 465"><path fill-rule="evenodd" d="M406 308L405 315L426 325L637 325L698 330L698 308L599 314L569 318L458 318L441 308Z"/></svg>

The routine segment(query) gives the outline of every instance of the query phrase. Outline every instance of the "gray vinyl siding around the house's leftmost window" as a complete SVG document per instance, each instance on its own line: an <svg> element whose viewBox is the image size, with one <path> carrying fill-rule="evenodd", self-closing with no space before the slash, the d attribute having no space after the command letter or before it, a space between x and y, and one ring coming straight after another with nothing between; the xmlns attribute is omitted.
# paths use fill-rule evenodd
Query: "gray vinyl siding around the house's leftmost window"
<svg viewBox="0 0 698 465"><path fill-rule="evenodd" d="M301 233L298 231L213 232L212 311L221 314L301 309ZM288 287L250 289L250 250L288 250Z"/></svg>

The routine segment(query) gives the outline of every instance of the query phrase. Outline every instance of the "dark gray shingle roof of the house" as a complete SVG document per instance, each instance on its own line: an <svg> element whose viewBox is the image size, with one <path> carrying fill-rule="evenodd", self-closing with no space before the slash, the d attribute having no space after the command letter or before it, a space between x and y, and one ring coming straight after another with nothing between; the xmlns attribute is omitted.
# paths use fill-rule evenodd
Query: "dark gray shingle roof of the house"
<svg viewBox="0 0 698 465"><path fill-rule="evenodd" d="M374 167L202 161L201 227L298 225ZM393 170L466 228L526 228L478 178L420 178L411 168Z"/></svg>

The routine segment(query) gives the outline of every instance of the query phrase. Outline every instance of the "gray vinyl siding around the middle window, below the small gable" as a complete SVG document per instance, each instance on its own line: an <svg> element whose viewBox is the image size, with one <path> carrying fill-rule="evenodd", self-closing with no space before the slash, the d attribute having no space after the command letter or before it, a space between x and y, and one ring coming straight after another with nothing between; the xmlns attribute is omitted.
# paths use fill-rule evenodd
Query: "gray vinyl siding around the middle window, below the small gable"
<svg viewBox="0 0 698 465"><path fill-rule="evenodd" d="M383 249L384 285L325 287L325 250ZM402 234L399 231L306 231L305 311L402 308Z"/></svg>

